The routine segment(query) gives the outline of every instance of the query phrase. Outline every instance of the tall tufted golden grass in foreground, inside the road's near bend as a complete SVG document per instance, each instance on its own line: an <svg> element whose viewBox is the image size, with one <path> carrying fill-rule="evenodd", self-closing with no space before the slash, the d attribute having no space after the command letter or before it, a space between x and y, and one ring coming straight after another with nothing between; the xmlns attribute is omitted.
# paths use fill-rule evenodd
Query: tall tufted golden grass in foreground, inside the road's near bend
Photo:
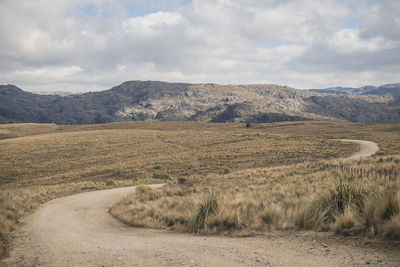
<svg viewBox="0 0 400 267"><path fill-rule="evenodd" d="M399 162L376 157L192 177L130 195L111 213L129 225L193 231L197 207L213 190L219 212L205 219L204 233L314 229L399 239Z"/></svg>

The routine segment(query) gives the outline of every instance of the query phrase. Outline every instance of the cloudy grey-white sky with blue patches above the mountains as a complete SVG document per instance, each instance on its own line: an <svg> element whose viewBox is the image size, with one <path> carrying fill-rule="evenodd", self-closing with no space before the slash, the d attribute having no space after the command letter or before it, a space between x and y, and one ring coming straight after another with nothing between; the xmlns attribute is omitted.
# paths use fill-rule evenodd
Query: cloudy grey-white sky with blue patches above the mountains
<svg viewBox="0 0 400 267"><path fill-rule="evenodd" d="M399 0L0 0L0 84L400 82Z"/></svg>

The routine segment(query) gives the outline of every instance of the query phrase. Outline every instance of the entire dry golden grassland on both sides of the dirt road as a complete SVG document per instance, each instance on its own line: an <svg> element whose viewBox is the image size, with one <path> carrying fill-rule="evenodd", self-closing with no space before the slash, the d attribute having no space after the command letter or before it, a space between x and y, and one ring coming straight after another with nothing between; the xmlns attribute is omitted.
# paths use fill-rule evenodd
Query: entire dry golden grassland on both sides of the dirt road
<svg viewBox="0 0 400 267"><path fill-rule="evenodd" d="M357 150L332 140L338 138L376 141L380 151L371 159L323 161ZM167 185L140 187L112 214L131 225L192 232L399 236L399 125L10 124L0 125L0 139L0 257L18 220L41 203L149 183ZM339 199L336 207L326 205L329 195Z"/></svg>

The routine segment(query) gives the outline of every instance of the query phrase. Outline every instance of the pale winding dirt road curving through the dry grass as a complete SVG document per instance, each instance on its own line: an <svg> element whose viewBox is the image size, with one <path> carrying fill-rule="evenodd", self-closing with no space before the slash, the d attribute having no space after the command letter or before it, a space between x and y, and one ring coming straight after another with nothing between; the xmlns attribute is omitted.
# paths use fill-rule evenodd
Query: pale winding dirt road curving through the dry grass
<svg viewBox="0 0 400 267"><path fill-rule="evenodd" d="M360 141L357 141L360 143ZM372 153L362 141L359 156ZM367 148L366 150L364 148ZM377 146L376 146L377 147ZM369 151L369 152L367 152ZM353 155L354 157L355 155ZM161 185L153 185L160 187ZM24 219L5 266L348 266L400 264L400 253L327 233L232 238L131 228L109 208L134 187L58 198Z"/></svg>

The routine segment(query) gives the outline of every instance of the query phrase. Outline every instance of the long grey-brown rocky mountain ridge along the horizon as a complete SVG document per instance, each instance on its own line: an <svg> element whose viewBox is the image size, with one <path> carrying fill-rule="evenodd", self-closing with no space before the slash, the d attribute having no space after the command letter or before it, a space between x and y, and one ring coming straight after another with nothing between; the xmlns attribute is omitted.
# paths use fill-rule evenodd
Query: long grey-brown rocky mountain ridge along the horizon
<svg viewBox="0 0 400 267"><path fill-rule="evenodd" d="M0 86L0 123L90 124L169 120L275 122L341 120L400 123L393 94L337 94L278 85L218 85L129 81L79 95L38 95Z"/></svg>

